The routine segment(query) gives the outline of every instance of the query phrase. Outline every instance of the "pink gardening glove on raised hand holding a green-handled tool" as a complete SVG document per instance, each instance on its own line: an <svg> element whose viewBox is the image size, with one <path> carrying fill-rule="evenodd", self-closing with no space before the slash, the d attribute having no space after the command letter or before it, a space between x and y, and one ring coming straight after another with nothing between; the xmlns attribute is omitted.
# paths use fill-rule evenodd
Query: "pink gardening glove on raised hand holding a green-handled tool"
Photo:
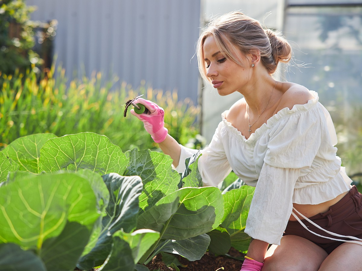
<svg viewBox="0 0 362 271"><path fill-rule="evenodd" d="M131 109L131 114L138 117L138 119L143 121L144 129L151 135L153 141L160 143L165 140L168 130L164 127L164 114L162 107L159 107L157 104L138 98L134 100L134 103L143 104L147 109L148 113L137 114L133 109Z"/></svg>

